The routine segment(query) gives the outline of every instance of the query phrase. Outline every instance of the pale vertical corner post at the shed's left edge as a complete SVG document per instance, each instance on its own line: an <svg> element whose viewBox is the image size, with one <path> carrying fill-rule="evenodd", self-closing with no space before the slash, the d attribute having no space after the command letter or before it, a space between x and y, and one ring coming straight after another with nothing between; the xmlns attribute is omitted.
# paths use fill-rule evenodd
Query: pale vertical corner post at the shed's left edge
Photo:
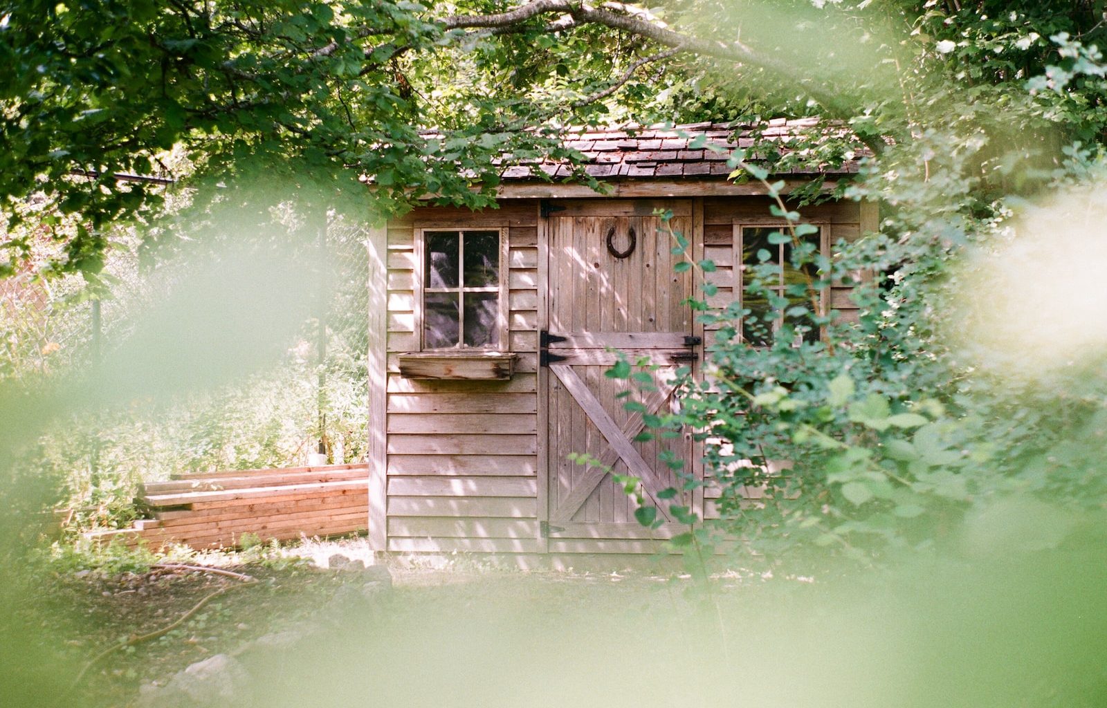
<svg viewBox="0 0 1107 708"><path fill-rule="evenodd" d="M387 539L387 406L389 406L389 230L377 225L365 240L369 259L369 546L386 551Z"/></svg>

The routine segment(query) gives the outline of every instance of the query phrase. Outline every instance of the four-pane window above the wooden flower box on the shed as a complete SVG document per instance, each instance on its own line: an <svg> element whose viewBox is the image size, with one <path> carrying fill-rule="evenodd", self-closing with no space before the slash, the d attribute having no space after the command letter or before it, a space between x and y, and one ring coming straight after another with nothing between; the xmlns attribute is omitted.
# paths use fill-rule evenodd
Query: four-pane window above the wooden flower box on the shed
<svg viewBox="0 0 1107 708"><path fill-rule="evenodd" d="M418 326L424 351L506 344L505 243L499 229L422 231Z"/></svg>

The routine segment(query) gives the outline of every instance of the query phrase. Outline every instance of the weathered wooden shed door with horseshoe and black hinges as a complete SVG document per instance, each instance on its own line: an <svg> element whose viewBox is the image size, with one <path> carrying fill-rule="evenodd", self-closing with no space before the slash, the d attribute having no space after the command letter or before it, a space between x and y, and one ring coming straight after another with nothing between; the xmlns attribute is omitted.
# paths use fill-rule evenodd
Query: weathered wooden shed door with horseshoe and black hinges
<svg viewBox="0 0 1107 708"><path fill-rule="evenodd" d="M617 215L628 211L614 207ZM675 486L676 477L659 455L669 449L691 460L685 433L674 439L635 441L643 429L642 414L625 410L627 398L618 397L629 384L604 376L618 356L613 348L625 352L632 363L645 358L655 368L634 371L648 372L658 391L643 394L642 403L651 413L674 405L673 373L690 363L695 350L685 341L693 331L693 314L684 302L693 292L692 274L673 269L682 257L672 253L676 242L670 229L689 235L691 218L674 217L665 227L653 216L594 211L551 216L547 228L549 330L542 358L548 366L551 551L556 539L578 540L572 548L562 543L562 550L604 550L579 540L671 534L673 524L650 532L637 522L634 500L604 467L640 478L650 502L664 512L672 501L659 500L656 492ZM686 208L675 211L689 214ZM575 464L572 452L588 454L601 465ZM671 521L664 513L659 518Z"/></svg>

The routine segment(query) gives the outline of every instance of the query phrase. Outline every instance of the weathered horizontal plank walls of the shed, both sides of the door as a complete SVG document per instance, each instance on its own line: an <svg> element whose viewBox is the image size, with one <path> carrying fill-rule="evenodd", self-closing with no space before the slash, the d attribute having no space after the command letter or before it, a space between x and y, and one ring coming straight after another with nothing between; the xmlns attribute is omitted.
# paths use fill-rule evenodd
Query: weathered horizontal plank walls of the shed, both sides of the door
<svg viewBox="0 0 1107 708"><path fill-rule="evenodd" d="M768 219L764 197L706 197L696 200L693 253L715 261L710 273L718 285L713 304L725 306L737 293L734 253L736 223ZM836 202L809 207L804 217L821 222L830 242L876 229L868 205ZM538 330L545 294L540 281L539 235L545 233L537 200L506 200L482 212L449 207L416 209L387 225L386 392L371 393L386 409L386 509L379 513L387 532L382 546L393 552L482 551L540 553L539 520L548 503L539 479L545 419L539 399ZM397 354L418 350L415 322L414 230L432 228L509 229L509 351L517 352L515 376L507 382L412 381L400 376ZM701 250L702 249L702 250ZM835 288L834 306L853 308L848 289ZM848 315L847 315L848 316ZM711 343L712 332L704 332ZM696 504L714 512L707 499ZM702 504L702 506L701 506ZM372 528L372 525L371 525ZM559 546L560 548L560 546ZM612 552L625 552L614 543ZM652 548L652 546L651 546ZM602 544L571 544L561 551L596 552ZM551 551L554 549L550 549Z"/></svg>

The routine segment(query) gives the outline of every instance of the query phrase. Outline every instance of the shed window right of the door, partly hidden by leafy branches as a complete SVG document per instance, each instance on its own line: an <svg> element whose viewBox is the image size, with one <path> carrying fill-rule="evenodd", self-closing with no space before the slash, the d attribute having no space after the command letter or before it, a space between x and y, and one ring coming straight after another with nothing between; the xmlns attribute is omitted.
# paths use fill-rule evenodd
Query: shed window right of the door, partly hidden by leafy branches
<svg viewBox="0 0 1107 708"><path fill-rule="evenodd" d="M819 339L819 327L811 326L808 317L800 315L793 317L787 311L794 306L811 310L808 282L819 280L818 269L814 263L804 263L801 268L796 268L792 262L794 244L789 241L784 243L772 243L769 235L773 232L787 233L784 223L742 226L738 228L739 250L742 253L741 275L738 292L741 293L742 306L749 310L749 314L742 319L742 340L753 346L770 346L777 332L786 322L805 324L808 330L803 333L801 341L815 342ZM826 254L826 243L823 235L825 228L816 226L818 229L814 233L800 237L800 241L806 242L808 248L814 248L816 253ZM756 270L755 270L756 269ZM774 272L775 278L766 279L767 292L751 293L746 289L747 282L753 279L754 273L764 275L766 271ZM772 302L776 300L776 302ZM783 308L774 304L786 303ZM818 295L818 310L823 311L824 293ZM818 313L816 313L818 314ZM796 344L800 341L797 337Z"/></svg>

